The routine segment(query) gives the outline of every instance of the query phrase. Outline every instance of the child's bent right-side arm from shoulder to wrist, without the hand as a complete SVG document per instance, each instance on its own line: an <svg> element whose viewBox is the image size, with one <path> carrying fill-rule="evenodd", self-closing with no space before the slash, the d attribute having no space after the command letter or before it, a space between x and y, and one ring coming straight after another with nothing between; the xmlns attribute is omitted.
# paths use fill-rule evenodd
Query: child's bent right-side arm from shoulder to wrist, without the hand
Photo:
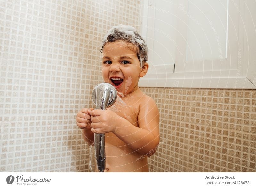
<svg viewBox="0 0 256 188"><path fill-rule="evenodd" d="M149 101L140 106L138 115L139 127L133 126L123 119L114 134L130 148L142 154L153 155L159 144L159 112L155 101Z"/></svg>

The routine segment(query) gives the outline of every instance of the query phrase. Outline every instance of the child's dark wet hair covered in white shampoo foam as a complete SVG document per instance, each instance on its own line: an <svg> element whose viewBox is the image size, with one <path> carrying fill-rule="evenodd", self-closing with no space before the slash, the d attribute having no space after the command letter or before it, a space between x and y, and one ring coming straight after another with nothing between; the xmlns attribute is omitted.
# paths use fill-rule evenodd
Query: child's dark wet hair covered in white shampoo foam
<svg viewBox="0 0 256 188"><path fill-rule="evenodd" d="M104 46L108 42L116 41L127 42L127 47L137 54L137 57L140 61L140 67L142 67L146 61L148 61L147 44L140 35L140 33L138 33L134 27L122 24L119 26L112 27L102 40L103 45L100 52L102 53ZM129 45L129 43L133 45Z"/></svg>

